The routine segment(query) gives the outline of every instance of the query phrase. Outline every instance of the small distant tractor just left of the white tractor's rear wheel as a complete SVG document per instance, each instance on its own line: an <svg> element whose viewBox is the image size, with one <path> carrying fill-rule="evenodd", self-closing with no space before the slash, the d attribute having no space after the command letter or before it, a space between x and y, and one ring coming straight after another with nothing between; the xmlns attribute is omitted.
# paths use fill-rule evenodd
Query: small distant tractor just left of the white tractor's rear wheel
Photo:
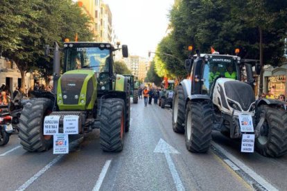
<svg viewBox="0 0 287 191"><path fill-rule="evenodd" d="M164 88L164 81L162 81L162 91L159 91L159 106L164 109L166 107L166 104L169 104L171 109L173 108L173 93L174 93L174 87L175 87L175 81L174 80L168 80L168 88Z"/></svg>

